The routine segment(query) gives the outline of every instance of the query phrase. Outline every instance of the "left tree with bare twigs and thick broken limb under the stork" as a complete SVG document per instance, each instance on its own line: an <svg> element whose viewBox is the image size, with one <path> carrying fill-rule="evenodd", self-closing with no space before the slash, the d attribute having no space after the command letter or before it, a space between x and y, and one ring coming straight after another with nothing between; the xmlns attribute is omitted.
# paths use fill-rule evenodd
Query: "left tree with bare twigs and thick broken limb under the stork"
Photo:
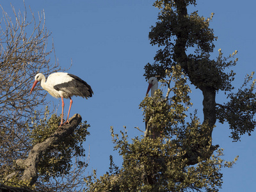
<svg viewBox="0 0 256 192"><path fill-rule="evenodd" d="M90 126L74 115L70 124L58 127L56 116L36 88L29 95L35 74L61 70L51 33L45 29L44 12L3 12L0 24L0 189L3 191L70 191L81 188L87 162L79 159ZM31 10L30 10L31 11ZM29 20L31 19L31 20ZM72 162L76 157L76 162ZM0 191L1 191L0 190Z"/></svg>

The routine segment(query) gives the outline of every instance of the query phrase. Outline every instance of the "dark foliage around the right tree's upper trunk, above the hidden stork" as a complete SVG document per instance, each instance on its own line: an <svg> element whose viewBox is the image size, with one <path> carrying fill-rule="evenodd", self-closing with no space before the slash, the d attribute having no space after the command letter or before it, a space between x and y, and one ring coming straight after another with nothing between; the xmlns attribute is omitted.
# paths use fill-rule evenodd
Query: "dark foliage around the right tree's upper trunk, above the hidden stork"
<svg viewBox="0 0 256 192"><path fill-rule="evenodd" d="M211 87L214 90L230 90L233 72L224 69L236 65L236 61L210 59L210 52L214 50L213 29L209 28L211 17L200 17L198 12L187 13L186 6L195 1L157 1L155 5L161 8L156 26L152 26L149 33L150 44L164 47L159 49L153 64L147 63L144 76L157 75L164 77L165 70L181 65L189 80L197 88ZM182 9L180 8L182 7ZM181 12L180 10L184 10ZM190 53L193 52L194 53ZM236 52L235 52L236 54ZM232 54L232 57L235 55Z"/></svg>

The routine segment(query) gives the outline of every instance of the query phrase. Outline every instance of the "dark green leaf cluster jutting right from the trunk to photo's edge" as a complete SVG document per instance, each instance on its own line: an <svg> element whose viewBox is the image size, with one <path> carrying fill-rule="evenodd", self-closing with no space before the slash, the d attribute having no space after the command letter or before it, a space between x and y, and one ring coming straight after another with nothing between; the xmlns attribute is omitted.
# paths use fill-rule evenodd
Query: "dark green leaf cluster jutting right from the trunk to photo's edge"
<svg viewBox="0 0 256 192"><path fill-rule="evenodd" d="M253 78L252 73L248 75L244 84L239 88L237 93L229 93L228 101L226 104L219 104L217 109L217 116L219 121L223 124L228 122L232 130L230 138L238 141L241 135L254 131L256 121L254 119L256 113L256 93L255 93L255 80L250 86L247 86Z"/></svg>

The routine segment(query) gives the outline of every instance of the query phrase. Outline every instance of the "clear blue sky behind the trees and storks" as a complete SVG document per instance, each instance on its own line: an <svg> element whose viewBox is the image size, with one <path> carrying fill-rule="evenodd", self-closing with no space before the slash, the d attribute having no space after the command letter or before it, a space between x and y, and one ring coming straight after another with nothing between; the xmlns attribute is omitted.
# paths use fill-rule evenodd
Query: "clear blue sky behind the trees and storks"
<svg viewBox="0 0 256 192"><path fill-rule="evenodd" d="M62 68L72 67L69 73L81 77L92 86L94 95L85 100L74 97L70 116L79 113L91 125L84 148L90 146L90 167L98 175L108 171L109 155L121 165L118 152L113 151L110 126L115 131L127 126L129 138L141 135L134 129L144 129L141 109L138 108L147 91L143 67L153 62L157 47L149 44L148 32L154 25L159 10L150 0L94 0L94 1L35 1L26 0L33 12L45 12L45 26L52 32L56 57ZM22 1L5 0L0 4L11 12L10 3L16 10L23 10ZM222 49L228 56L238 51L238 64L233 68L237 73L235 86L241 86L247 73L255 70L255 1L241 3L238 0L197 1L199 15L209 17L214 12L211 28L218 36L212 56L218 56ZM195 8L191 7L191 10ZM54 63L54 61L52 61ZM31 86L32 86L31 82ZM192 87L193 88L193 87ZM30 89L30 88L28 88ZM191 93L193 108L202 109L202 93ZM61 104L60 99L51 95L47 99ZM223 95L217 102L225 102ZM65 115L68 100L65 100ZM61 105L58 113L61 113ZM198 113L202 118L202 113ZM253 191L256 181L256 134L242 136L233 143L228 136L228 125L217 124L213 132L213 144L224 148L224 159L231 161L237 155L239 160L234 168L223 170L223 188L220 191Z"/></svg>

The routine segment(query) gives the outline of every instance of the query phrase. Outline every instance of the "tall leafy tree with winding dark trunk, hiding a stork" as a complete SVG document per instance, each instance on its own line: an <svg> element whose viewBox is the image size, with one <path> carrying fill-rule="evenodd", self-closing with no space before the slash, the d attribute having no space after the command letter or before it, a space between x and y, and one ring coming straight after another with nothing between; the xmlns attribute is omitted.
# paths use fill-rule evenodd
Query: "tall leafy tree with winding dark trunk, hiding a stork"
<svg viewBox="0 0 256 192"><path fill-rule="evenodd" d="M129 143L126 131L121 131L120 138L111 128L115 149L124 163L118 168L111 159L111 172L100 179L95 175L87 178L87 191L218 191L221 168L232 167L237 157L224 161L223 149L212 145L216 121L229 124L234 141L254 131L253 73L236 92L232 85L235 73L228 68L236 65L237 51L224 57L219 49L218 58L211 58L217 40L209 28L213 13L209 18L188 13L188 6L196 6L195 0L157 0L154 6L160 12L148 36L150 44L160 49L155 62L145 65L144 76L157 76L168 91L161 102L161 90L156 92L159 97L145 97L140 108L162 137L152 140L146 135ZM191 90L187 81L204 96L202 123L196 111L188 118ZM220 92L227 93L226 103L216 103Z"/></svg>

